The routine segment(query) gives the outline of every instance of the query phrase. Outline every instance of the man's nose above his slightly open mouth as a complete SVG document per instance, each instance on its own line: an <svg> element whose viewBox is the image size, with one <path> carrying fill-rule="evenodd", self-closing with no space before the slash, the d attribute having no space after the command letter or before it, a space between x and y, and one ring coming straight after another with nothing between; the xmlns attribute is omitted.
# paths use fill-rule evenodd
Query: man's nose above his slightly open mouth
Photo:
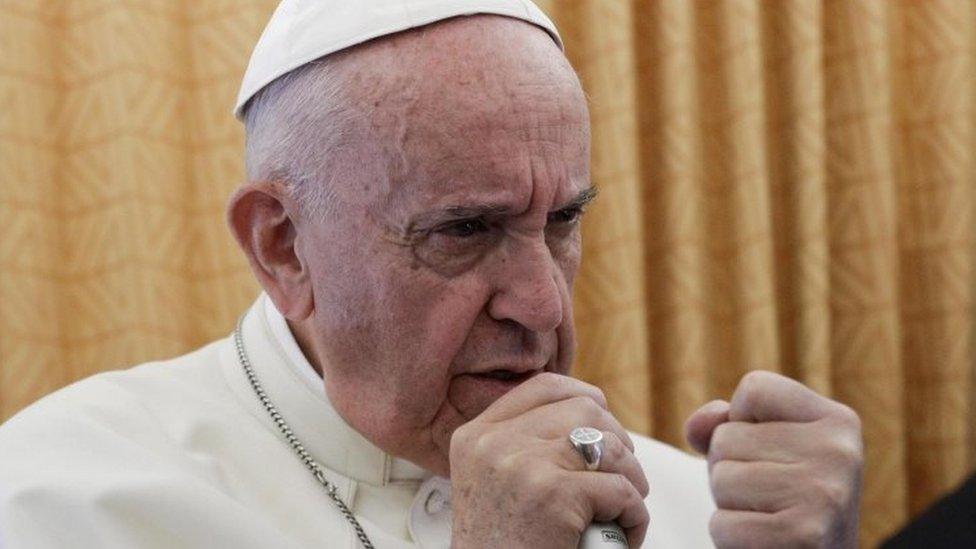
<svg viewBox="0 0 976 549"><path fill-rule="evenodd" d="M563 320L561 271L545 242L523 242L517 248L495 273L496 290L488 314L533 332L552 331Z"/></svg>

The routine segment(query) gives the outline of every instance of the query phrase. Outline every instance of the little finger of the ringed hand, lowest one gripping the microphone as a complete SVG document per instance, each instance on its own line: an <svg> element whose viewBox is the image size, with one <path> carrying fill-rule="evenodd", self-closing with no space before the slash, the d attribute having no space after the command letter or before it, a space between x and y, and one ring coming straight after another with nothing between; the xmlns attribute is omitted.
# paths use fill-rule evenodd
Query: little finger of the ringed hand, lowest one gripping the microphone
<svg viewBox="0 0 976 549"><path fill-rule="evenodd" d="M640 547L650 515L644 497L630 479L604 472L573 473L580 501L588 502L594 521L616 521L627 532L631 547Z"/></svg>

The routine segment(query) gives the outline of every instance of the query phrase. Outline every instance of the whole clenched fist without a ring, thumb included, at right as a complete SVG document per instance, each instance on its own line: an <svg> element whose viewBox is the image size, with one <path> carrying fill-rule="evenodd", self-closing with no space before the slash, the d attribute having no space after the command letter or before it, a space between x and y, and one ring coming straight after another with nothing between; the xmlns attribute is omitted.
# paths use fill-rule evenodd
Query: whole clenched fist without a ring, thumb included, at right
<svg viewBox="0 0 976 549"><path fill-rule="evenodd" d="M770 372L742 378L685 426L708 457L719 548L857 545L863 449L850 408Z"/></svg>

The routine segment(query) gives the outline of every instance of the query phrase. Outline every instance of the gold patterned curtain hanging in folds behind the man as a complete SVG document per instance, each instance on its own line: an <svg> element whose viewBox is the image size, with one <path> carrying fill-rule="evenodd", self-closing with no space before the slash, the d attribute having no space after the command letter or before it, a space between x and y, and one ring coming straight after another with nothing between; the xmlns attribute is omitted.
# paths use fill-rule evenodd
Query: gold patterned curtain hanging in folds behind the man
<svg viewBox="0 0 976 549"><path fill-rule="evenodd" d="M231 330L271 0L0 0L0 419ZM969 471L971 0L540 2L590 97L577 372L638 431L747 370L854 407L862 544Z"/></svg>

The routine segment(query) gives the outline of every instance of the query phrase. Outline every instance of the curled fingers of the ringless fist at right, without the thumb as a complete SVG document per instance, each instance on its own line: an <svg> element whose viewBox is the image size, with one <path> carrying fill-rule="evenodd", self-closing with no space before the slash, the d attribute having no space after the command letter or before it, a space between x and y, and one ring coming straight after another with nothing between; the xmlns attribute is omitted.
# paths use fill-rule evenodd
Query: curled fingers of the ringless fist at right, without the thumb
<svg viewBox="0 0 976 549"><path fill-rule="evenodd" d="M861 455L859 431L833 419L723 423L708 454L716 545L822 545L817 536L853 532Z"/></svg>

